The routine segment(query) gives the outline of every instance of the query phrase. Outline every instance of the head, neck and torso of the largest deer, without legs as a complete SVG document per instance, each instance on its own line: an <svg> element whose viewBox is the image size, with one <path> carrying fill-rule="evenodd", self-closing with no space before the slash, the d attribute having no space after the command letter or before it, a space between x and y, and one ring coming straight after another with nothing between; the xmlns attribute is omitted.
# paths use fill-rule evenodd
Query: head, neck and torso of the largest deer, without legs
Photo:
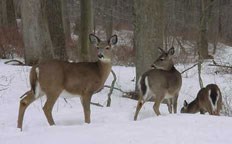
<svg viewBox="0 0 232 144"><path fill-rule="evenodd" d="M98 61L71 63L60 60L42 62L35 68L38 83L45 93L61 93L63 90L75 95L93 94L101 89L111 71L112 45L117 43L113 35L101 41L90 34L90 42L97 49Z"/></svg>

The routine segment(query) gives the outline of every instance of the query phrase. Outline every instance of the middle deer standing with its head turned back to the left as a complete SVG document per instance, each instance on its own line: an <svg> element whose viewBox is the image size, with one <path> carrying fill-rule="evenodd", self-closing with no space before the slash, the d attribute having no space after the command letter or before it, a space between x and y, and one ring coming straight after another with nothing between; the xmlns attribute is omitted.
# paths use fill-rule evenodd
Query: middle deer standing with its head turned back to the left
<svg viewBox="0 0 232 144"><path fill-rule="evenodd" d="M160 103L164 100L168 104L169 112L177 111L177 99L182 85L181 74L174 67L172 56L175 53L174 48L170 48L168 52L159 48L161 55L153 63L153 69L145 72L138 81L140 98L138 100L134 120L137 120L138 113L143 104L150 100L154 100L153 109L157 115L160 115Z"/></svg>

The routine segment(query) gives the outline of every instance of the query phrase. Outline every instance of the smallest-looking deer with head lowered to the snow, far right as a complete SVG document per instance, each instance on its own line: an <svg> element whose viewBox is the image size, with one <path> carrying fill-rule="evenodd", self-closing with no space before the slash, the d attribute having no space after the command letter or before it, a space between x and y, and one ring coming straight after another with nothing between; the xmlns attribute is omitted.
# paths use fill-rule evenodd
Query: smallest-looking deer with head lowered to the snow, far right
<svg viewBox="0 0 232 144"><path fill-rule="evenodd" d="M202 88L195 100L191 103L184 101L184 107L181 113L197 113L204 114L208 112L210 115L219 115L222 109L221 91L216 84L209 84Z"/></svg>

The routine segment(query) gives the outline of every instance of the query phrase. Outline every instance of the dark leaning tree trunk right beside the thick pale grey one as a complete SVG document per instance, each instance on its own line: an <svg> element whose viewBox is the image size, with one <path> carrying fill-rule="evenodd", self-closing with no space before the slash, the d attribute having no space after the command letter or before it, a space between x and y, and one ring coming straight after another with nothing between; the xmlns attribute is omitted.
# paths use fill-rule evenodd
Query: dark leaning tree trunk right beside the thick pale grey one
<svg viewBox="0 0 232 144"><path fill-rule="evenodd" d="M54 56L66 60L65 34L62 19L62 0L44 0L48 28L51 35Z"/></svg>

